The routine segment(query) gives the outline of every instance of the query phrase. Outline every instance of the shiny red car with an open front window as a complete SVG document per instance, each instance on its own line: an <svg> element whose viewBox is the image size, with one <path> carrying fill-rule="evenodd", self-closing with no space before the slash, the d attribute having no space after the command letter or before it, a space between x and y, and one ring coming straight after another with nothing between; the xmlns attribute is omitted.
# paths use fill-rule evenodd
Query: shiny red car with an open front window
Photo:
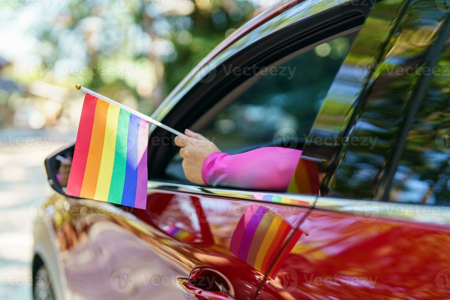
<svg viewBox="0 0 450 300"><path fill-rule="evenodd" d="M303 150L286 193L190 183L160 128L145 210L67 196L74 144L50 155L35 299L450 298L449 18L444 0L280 2L153 114L230 154Z"/></svg>

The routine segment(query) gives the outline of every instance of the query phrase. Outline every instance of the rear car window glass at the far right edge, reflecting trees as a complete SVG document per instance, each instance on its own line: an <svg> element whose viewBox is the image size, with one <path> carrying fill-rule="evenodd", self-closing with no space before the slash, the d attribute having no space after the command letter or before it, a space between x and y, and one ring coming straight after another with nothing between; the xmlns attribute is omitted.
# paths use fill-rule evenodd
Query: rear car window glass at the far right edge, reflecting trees
<svg viewBox="0 0 450 300"><path fill-rule="evenodd" d="M389 201L450 205L450 49L430 71L428 93L409 130Z"/></svg>

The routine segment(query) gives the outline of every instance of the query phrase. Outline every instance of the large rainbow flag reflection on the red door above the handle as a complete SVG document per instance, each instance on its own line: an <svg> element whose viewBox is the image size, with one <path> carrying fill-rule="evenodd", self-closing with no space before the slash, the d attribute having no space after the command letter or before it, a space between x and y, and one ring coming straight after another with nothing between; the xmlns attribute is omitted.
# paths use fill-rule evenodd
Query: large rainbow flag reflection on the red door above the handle
<svg viewBox="0 0 450 300"><path fill-rule="evenodd" d="M280 251L292 230L292 226L275 211L250 205L234 230L229 251L261 273L273 274L278 270L271 266L282 264ZM285 247L284 252L291 249Z"/></svg>

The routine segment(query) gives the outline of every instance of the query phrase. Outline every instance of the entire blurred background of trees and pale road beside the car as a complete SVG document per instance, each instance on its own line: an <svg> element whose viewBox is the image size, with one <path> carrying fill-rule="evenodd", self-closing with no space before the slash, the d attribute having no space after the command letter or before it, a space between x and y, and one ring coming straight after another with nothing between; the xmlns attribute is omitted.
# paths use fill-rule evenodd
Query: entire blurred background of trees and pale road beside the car
<svg viewBox="0 0 450 300"><path fill-rule="evenodd" d="M193 66L273 0L0 0L0 277L31 276L43 160L73 142L84 85L151 114ZM31 299L2 284L0 299Z"/></svg>

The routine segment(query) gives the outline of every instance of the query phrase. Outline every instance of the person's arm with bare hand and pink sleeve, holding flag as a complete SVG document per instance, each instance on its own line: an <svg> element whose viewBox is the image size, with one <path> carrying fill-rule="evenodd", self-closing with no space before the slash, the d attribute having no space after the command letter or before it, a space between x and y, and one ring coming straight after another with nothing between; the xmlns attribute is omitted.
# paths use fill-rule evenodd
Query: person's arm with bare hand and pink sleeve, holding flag
<svg viewBox="0 0 450 300"><path fill-rule="evenodd" d="M229 155L200 134L190 130L185 134L189 139L178 136L175 143L181 147L186 178L198 184L284 191L302 155L300 150L281 147Z"/></svg>

